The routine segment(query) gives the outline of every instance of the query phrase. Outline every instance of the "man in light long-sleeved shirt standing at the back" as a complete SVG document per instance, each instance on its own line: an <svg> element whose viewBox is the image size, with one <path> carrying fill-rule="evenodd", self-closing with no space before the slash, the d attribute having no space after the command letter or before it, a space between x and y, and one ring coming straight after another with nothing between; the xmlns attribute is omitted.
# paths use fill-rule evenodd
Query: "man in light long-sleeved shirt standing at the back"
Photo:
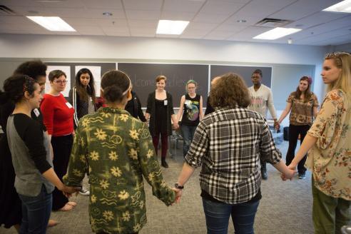
<svg viewBox="0 0 351 234"><path fill-rule="evenodd" d="M273 104L273 94L270 88L262 84L262 71L256 69L251 76L251 81L253 81L253 86L248 88L250 92L251 104L248 109L251 111L256 111L267 118L267 111L270 110L270 115L273 117L274 126L278 125L277 113ZM267 180L267 167L266 162L261 162L261 174L264 180Z"/></svg>

